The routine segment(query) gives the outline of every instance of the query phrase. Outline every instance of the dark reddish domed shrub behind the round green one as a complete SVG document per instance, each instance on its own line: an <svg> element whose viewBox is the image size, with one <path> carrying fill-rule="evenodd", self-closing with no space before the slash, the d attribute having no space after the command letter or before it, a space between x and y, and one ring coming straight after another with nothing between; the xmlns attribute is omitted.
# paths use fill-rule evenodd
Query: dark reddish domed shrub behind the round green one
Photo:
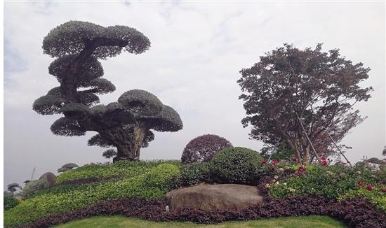
<svg viewBox="0 0 386 228"><path fill-rule="evenodd" d="M209 162L220 150L230 147L232 147L232 144L225 138L215 134L204 134L193 138L192 141L187 143L182 152L181 162L184 164Z"/></svg>

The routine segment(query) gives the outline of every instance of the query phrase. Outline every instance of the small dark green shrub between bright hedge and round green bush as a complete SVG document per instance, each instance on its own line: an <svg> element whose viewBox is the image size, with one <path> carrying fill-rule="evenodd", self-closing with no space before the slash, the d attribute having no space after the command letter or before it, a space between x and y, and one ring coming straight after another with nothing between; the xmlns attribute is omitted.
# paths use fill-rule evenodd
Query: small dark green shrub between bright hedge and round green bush
<svg viewBox="0 0 386 228"><path fill-rule="evenodd" d="M208 163L191 163L181 166L180 184L182 186L197 185L203 182L211 182Z"/></svg>

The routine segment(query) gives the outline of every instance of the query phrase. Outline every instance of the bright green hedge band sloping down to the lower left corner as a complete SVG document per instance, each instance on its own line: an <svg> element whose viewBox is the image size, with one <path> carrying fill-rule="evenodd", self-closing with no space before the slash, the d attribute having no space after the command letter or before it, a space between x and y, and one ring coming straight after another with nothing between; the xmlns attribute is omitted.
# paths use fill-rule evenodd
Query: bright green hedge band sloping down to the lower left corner
<svg viewBox="0 0 386 228"><path fill-rule="evenodd" d="M146 173L115 182L100 183L80 191L58 194L41 194L22 201L4 213L4 225L16 227L53 213L63 213L90 206L98 201L139 197L158 199L164 197L171 183L180 174L178 166L160 164Z"/></svg>

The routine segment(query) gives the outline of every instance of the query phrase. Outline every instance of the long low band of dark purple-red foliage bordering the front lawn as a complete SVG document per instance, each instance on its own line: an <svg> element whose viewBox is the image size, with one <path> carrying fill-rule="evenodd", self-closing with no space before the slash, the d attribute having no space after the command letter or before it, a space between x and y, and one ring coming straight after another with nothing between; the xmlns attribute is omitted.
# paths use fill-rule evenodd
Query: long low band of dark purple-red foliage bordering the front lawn
<svg viewBox="0 0 386 228"><path fill-rule="evenodd" d="M202 211L183 209L165 211L164 200L121 199L103 201L88 208L69 213L50 215L24 227L51 227L79 218L97 215L125 215L152 221L189 221L197 223L224 222L229 220L256 220L299 215L326 215L345 222L349 227L386 227L386 214L378 211L366 199L355 198L335 201L319 196L299 196L285 199L269 199L243 210Z"/></svg>

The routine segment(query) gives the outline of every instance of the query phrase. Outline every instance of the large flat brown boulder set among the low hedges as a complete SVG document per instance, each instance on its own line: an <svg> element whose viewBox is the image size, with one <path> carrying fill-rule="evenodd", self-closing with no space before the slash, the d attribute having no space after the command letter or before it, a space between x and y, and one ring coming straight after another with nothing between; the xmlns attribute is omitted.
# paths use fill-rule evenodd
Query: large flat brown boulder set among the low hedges
<svg viewBox="0 0 386 228"><path fill-rule="evenodd" d="M246 208L262 201L257 187L249 185L197 185L173 190L166 194L171 211L182 208L224 209Z"/></svg>

